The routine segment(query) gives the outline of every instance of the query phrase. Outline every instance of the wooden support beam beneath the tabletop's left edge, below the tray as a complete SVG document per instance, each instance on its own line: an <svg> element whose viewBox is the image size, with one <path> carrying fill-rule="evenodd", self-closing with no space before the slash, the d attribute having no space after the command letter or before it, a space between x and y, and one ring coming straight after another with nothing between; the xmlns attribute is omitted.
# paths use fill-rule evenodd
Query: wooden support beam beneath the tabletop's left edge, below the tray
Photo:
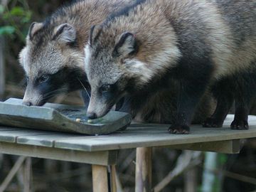
<svg viewBox="0 0 256 192"><path fill-rule="evenodd" d="M7 142L0 142L0 153L97 165L113 165L117 162L117 151L85 152Z"/></svg>

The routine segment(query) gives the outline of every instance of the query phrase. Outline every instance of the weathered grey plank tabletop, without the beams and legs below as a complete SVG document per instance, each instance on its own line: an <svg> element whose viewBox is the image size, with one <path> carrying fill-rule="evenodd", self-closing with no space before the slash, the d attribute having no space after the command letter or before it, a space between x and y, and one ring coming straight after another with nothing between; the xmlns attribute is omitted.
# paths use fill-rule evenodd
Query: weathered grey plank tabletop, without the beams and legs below
<svg viewBox="0 0 256 192"><path fill-rule="evenodd" d="M203 128L201 125L193 125L191 134L183 135L169 134L168 124L132 124L125 131L99 136L0 127L0 142L79 151L107 151L256 137L256 116L249 117L248 130L231 130L229 127L232 120L233 115L229 114L223 128Z"/></svg>

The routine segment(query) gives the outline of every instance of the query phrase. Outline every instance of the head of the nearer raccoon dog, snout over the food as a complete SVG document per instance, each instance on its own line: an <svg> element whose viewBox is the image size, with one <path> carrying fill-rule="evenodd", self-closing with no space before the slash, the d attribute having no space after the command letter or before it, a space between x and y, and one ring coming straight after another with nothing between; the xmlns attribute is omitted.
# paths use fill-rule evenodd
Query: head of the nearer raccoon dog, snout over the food
<svg viewBox="0 0 256 192"><path fill-rule="evenodd" d="M85 71L91 87L87 116L102 117L124 95L146 81L145 63L137 59L139 42L133 33L111 36L92 26L85 46Z"/></svg>

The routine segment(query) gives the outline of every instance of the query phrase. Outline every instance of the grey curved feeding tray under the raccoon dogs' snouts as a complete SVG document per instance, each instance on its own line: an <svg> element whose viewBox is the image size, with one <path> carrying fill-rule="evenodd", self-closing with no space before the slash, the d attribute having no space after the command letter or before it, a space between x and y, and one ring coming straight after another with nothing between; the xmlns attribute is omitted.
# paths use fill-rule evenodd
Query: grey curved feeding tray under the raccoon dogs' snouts
<svg viewBox="0 0 256 192"><path fill-rule="evenodd" d="M77 122L78 119L80 122ZM43 129L80 134L110 134L126 127L132 117L124 112L110 111L88 123L85 107L46 103L43 107L22 105L22 100L10 98L0 102L0 124L11 127Z"/></svg>

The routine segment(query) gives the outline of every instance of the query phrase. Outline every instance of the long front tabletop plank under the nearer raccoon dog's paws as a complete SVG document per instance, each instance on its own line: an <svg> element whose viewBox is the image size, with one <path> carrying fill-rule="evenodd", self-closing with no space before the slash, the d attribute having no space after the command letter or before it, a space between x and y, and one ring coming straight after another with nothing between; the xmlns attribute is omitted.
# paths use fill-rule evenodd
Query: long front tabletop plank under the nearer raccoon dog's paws
<svg viewBox="0 0 256 192"><path fill-rule="evenodd" d="M250 129L231 130L229 127L233 115L228 116L223 128L203 128L193 125L191 134L169 134L166 124L138 124L128 127L124 132L98 137L80 137L79 139L57 139L55 147L82 151L102 151L113 149L130 149L150 146L171 146L203 142L220 142L233 139L256 137L256 117L250 116Z"/></svg>

